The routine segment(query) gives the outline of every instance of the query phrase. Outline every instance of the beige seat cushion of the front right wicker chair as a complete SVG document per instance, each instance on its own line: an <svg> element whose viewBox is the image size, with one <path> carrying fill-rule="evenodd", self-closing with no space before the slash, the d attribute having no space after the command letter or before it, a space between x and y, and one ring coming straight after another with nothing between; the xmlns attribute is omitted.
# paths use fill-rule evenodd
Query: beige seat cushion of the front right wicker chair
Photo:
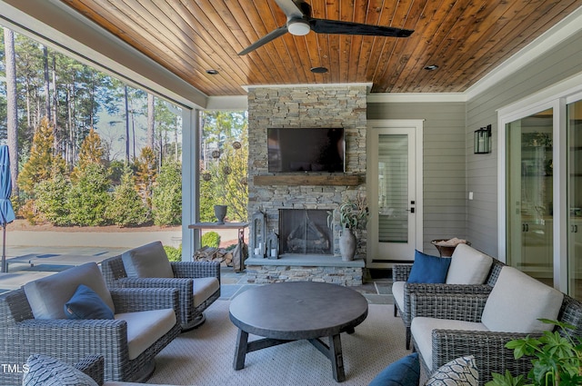
<svg viewBox="0 0 582 386"><path fill-rule="evenodd" d="M448 319L419 316L412 320L410 332L415 337L416 350L420 352L426 367L433 370L433 330L487 331L483 323L451 321ZM434 369L437 370L437 369Z"/></svg>

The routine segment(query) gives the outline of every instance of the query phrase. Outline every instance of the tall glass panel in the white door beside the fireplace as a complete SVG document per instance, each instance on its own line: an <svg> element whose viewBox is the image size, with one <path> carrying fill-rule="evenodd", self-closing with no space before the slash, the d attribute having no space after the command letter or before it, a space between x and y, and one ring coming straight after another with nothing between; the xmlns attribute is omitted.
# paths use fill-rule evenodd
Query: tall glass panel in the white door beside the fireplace
<svg viewBox="0 0 582 386"><path fill-rule="evenodd" d="M379 135L378 241L408 242L408 139Z"/></svg>

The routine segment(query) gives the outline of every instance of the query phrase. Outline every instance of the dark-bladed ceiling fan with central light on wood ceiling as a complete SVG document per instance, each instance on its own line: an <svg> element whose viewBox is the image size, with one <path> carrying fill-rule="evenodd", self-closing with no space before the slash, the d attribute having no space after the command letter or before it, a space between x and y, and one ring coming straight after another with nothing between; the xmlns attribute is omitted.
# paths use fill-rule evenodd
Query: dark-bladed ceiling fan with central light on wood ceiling
<svg viewBox="0 0 582 386"><path fill-rule="evenodd" d="M366 25L362 23L343 22L340 20L317 19L311 17L311 5L305 0L275 0L279 8L287 16L286 25L278 27L265 36L258 39L252 45L246 47L239 55L248 54L261 45L266 45L277 37L285 35L307 35L310 31L317 34L341 34L341 35L370 35L408 37L414 31L382 25Z"/></svg>

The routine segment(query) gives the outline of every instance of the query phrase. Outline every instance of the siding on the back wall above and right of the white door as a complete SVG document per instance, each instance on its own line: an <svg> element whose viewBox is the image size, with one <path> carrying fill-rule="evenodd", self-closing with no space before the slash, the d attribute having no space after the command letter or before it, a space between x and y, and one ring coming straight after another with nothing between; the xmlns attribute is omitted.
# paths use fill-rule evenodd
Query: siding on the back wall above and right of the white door
<svg viewBox="0 0 582 386"><path fill-rule="evenodd" d="M368 103L367 119L424 119L424 250L467 237L464 103Z"/></svg>

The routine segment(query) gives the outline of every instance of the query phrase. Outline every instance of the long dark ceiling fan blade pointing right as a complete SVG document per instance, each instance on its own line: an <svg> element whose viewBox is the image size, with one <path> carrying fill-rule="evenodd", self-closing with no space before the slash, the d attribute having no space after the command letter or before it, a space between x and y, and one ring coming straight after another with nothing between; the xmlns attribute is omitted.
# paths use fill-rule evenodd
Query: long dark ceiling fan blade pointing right
<svg viewBox="0 0 582 386"><path fill-rule="evenodd" d="M408 37L414 32L409 29L401 29L383 25L365 25L362 23L315 18L309 19L309 25L311 26L311 30L317 34Z"/></svg>

